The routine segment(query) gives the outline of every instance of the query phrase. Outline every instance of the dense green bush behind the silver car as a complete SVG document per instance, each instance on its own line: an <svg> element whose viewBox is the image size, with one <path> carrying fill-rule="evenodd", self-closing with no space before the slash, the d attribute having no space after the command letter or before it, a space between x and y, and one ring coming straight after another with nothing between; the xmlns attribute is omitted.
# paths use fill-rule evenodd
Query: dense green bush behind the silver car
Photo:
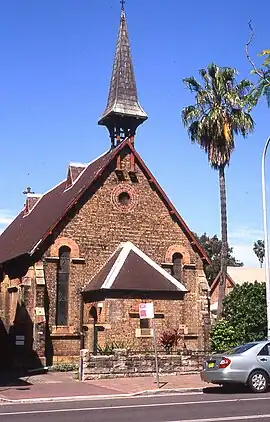
<svg viewBox="0 0 270 422"><path fill-rule="evenodd" d="M225 322L223 319L218 321L211 333L214 351L224 351L234 345L266 338L265 283L236 286L225 297L223 305Z"/></svg>

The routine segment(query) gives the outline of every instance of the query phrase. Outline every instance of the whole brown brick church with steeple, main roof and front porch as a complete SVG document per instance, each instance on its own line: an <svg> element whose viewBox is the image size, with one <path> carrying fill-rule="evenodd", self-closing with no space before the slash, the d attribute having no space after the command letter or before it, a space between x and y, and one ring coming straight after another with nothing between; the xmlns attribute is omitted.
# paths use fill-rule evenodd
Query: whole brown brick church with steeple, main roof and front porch
<svg viewBox="0 0 270 422"><path fill-rule="evenodd" d="M209 260L135 148L146 119L122 10L99 120L109 151L70 164L44 194L28 189L0 236L1 315L17 361L71 361L80 348L95 353L112 341L149 350L151 322L138 313L145 301L154 301L158 336L177 328L182 345L208 348Z"/></svg>

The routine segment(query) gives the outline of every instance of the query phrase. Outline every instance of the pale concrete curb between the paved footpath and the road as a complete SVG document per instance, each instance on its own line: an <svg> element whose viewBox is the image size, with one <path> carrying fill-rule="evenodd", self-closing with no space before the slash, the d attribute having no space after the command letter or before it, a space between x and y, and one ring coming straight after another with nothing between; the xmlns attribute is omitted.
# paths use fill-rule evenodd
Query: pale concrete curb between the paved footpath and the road
<svg viewBox="0 0 270 422"><path fill-rule="evenodd" d="M101 400L101 399L123 399L123 398L136 398L136 397L150 397L161 396L166 394L187 394L199 393L203 391L204 387L194 388L167 388L164 390L143 390L137 393L123 393L123 394L99 394L91 396L67 396L67 397L39 397L35 399L6 399L0 397L0 404L34 404L34 403L57 403L57 402L70 402L70 401L88 401L88 400Z"/></svg>

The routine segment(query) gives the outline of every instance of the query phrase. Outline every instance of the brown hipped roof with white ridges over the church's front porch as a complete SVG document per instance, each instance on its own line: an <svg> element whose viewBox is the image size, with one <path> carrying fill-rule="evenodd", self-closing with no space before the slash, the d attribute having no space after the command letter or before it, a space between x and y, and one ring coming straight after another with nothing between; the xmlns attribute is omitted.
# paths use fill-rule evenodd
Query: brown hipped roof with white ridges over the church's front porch
<svg viewBox="0 0 270 422"><path fill-rule="evenodd" d="M182 283L131 242L120 244L84 289L97 290L187 292Z"/></svg>

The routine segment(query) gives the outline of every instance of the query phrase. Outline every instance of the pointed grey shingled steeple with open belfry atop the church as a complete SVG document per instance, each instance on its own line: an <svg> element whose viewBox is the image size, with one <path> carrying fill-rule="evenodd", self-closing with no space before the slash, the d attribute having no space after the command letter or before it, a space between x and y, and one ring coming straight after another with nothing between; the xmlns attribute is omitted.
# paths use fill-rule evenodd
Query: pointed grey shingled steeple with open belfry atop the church
<svg viewBox="0 0 270 422"><path fill-rule="evenodd" d="M106 109L98 124L110 132L112 147L121 139L133 141L137 127L147 119L140 106L132 64L124 1Z"/></svg>

